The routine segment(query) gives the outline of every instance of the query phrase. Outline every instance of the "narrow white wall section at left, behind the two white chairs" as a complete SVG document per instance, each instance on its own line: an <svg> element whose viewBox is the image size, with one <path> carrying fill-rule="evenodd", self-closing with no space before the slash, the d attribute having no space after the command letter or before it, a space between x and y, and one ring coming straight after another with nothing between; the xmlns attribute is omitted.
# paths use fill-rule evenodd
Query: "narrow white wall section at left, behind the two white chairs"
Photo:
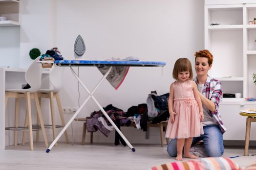
<svg viewBox="0 0 256 170"><path fill-rule="evenodd" d="M55 45L55 4L55 0L21 0L20 68L32 63L32 48L43 54Z"/></svg>

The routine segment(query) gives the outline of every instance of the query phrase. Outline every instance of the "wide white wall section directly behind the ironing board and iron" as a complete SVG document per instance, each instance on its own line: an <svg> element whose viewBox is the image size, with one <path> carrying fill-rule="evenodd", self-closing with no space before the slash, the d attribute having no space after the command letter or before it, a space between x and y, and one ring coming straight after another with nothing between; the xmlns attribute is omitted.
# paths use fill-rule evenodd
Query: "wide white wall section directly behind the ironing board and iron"
<svg viewBox="0 0 256 170"><path fill-rule="evenodd" d="M65 59L74 59L73 44L80 34L85 59L135 56L167 63L163 76L161 68L130 68L118 90L105 81L95 94L103 106L112 103L127 110L146 102L151 90L168 92L173 62L179 57L193 60L194 52L203 49L203 0L59 0L56 20L57 46ZM64 83L63 104L76 107L77 83L68 69L65 75L64 81L72 81ZM80 77L92 88L101 74L96 68L80 68ZM94 109L89 106L84 115Z"/></svg>

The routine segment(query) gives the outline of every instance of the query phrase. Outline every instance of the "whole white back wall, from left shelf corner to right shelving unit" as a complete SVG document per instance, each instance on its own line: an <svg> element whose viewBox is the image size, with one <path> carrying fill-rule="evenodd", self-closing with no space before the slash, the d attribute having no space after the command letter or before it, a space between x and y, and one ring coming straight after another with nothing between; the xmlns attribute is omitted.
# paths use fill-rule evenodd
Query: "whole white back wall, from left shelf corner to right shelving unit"
<svg viewBox="0 0 256 170"><path fill-rule="evenodd" d="M64 59L74 59L73 44L78 34L84 38L87 60L134 56L141 61L166 62L163 75L161 68L130 68L118 90L107 81L99 87L94 96L102 106L111 103L124 111L145 103L152 90L159 95L169 92L176 59L188 57L193 64L195 51L204 47L203 0L21 0L21 9L22 68L31 63L28 52L34 47L43 53L58 47ZM90 90L102 77L94 67L81 67L79 74ZM77 86L66 68L60 91L63 107L78 108ZM81 104L87 94L81 87L80 93ZM89 116L94 110L99 108L89 101L78 117ZM66 114L65 119L70 116ZM72 126L73 141L80 141L82 122L73 122ZM68 130L71 134L71 126ZM141 130L123 128L122 131L130 142L145 143ZM113 136L111 133L106 139L96 133L95 141L113 142ZM160 143L157 136L157 129L150 130L146 142Z"/></svg>

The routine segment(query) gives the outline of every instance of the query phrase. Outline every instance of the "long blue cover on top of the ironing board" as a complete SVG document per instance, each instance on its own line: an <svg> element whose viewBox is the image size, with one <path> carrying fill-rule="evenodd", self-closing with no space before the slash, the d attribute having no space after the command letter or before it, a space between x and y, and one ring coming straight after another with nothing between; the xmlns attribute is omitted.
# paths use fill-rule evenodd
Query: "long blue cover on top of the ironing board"
<svg viewBox="0 0 256 170"><path fill-rule="evenodd" d="M58 66L130 66L130 67L156 67L165 66L160 61L100 61L100 60L56 60Z"/></svg>

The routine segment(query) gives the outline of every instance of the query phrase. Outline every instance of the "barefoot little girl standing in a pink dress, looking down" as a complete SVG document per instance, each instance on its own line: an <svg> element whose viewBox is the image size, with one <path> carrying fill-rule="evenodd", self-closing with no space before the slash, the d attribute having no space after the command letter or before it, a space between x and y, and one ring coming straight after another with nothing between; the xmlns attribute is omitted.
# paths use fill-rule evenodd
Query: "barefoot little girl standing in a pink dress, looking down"
<svg viewBox="0 0 256 170"><path fill-rule="evenodd" d="M165 136L177 138L176 160L182 160L183 147L183 157L196 159L197 157L190 153L190 147L193 137L204 134L204 116L197 86L192 81L193 73L189 59L179 58L175 62L172 77L176 81L170 87L170 119Z"/></svg>

